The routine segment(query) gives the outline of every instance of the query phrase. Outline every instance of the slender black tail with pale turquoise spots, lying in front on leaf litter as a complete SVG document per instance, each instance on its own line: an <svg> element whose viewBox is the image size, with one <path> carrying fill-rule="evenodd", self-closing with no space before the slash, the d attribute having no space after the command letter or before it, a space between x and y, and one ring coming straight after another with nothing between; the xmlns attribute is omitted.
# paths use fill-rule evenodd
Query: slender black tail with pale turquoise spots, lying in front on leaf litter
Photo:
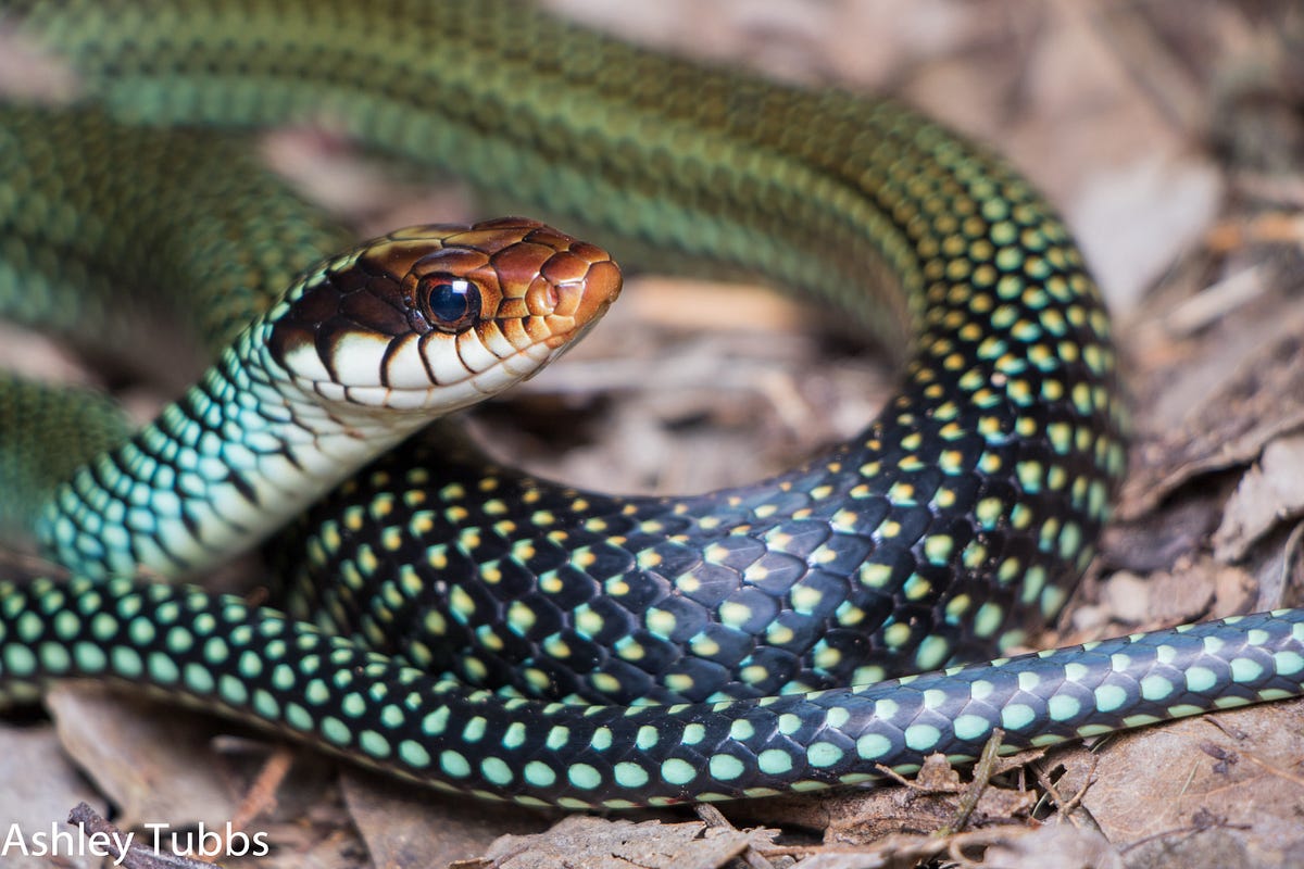
<svg viewBox="0 0 1304 869"><path fill-rule="evenodd" d="M128 580L0 584L0 667L102 676L273 727L436 788L630 808L875 782L1304 691L1304 611L1136 634L861 688L584 706L471 691L273 610Z"/></svg>

